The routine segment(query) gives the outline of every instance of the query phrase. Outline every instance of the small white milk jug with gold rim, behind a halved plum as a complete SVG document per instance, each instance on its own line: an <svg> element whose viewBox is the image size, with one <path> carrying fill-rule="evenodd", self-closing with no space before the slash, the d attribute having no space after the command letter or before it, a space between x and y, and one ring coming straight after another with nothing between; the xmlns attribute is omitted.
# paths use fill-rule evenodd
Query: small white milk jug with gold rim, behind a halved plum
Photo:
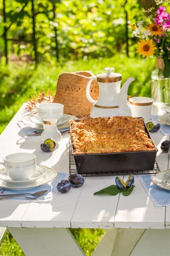
<svg viewBox="0 0 170 256"><path fill-rule="evenodd" d="M53 139L56 143L60 143L62 140L61 132L57 129L57 119L55 118L46 118L43 120L44 131L41 134L42 143L46 139Z"/></svg>

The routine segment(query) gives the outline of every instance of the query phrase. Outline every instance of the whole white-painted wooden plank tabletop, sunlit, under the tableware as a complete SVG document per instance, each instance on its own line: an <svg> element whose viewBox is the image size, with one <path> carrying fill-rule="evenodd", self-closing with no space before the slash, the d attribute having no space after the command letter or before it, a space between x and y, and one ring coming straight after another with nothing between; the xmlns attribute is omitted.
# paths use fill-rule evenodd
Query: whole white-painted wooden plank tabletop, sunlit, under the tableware
<svg viewBox="0 0 170 256"><path fill-rule="evenodd" d="M57 150L44 153L40 149L40 137L22 137L17 125L21 114L22 109L0 136L0 162L6 153L31 152L35 153L37 164L53 167L59 172L68 172L68 135L64 136ZM168 156L161 152L160 145L169 137L160 132L152 134L152 137L159 148L159 166L161 170L167 169ZM115 176L87 177L84 186L71 189L65 195L58 194L47 204L21 203L19 200L0 201L0 226L113 228L115 225L117 228L164 228L165 207L154 206L138 179L135 179L136 188L128 197L93 195L111 184L115 184ZM167 226L169 222L167 217Z"/></svg>

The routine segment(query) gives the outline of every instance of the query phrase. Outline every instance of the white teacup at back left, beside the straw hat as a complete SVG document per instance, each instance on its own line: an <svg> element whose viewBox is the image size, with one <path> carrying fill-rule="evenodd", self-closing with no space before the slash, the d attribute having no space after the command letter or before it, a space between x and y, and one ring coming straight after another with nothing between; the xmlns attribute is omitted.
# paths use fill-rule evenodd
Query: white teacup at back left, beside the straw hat
<svg viewBox="0 0 170 256"><path fill-rule="evenodd" d="M37 110L38 115L34 114ZM37 108L32 108L32 115L43 121L45 118L56 118L60 121L64 114L64 105L60 103L42 103L39 104Z"/></svg>

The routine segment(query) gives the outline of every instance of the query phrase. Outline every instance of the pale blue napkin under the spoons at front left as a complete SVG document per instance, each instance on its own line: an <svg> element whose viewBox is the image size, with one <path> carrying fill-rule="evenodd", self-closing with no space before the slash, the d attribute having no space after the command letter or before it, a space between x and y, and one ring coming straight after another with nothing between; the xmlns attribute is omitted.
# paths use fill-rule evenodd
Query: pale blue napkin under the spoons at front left
<svg viewBox="0 0 170 256"><path fill-rule="evenodd" d="M9 190L5 190L3 188L0 187L0 195L10 195L10 194L20 194L20 193L35 193L41 190L48 190L49 192L46 193L42 198L39 198L37 200L31 200L31 202L41 202L41 203L45 203L45 202L49 202L51 201L55 195L58 193L57 190L57 183L60 180L65 180L68 178L68 173L57 173L57 176L49 183L40 185L34 189L27 189L27 190L17 190L17 191L9 191ZM29 195L28 195L29 196ZM6 200L6 199L3 199ZM27 200L26 198L11 198L11 199L7 199L7 200Z"/></svg>

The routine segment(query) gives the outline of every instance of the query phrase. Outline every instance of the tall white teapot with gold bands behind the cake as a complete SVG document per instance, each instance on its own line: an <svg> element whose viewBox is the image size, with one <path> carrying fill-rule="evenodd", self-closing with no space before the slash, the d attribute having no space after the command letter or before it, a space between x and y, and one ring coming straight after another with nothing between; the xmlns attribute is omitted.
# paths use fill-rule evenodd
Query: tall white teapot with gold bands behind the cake
<svg viewBox="0 0 170 256"><path fill-rule="evenodd" d="M122 88L121 74L111 72L113 67L106 67L107 73L102 73L90 79L86 85L86 97L93 103L90 117L113 117L131 116L130 108L127 103L128 87L135 79L130 77L126 80ZM90 86L93 80L99 83L99 97L94 101L90 95Z"/></svg>

